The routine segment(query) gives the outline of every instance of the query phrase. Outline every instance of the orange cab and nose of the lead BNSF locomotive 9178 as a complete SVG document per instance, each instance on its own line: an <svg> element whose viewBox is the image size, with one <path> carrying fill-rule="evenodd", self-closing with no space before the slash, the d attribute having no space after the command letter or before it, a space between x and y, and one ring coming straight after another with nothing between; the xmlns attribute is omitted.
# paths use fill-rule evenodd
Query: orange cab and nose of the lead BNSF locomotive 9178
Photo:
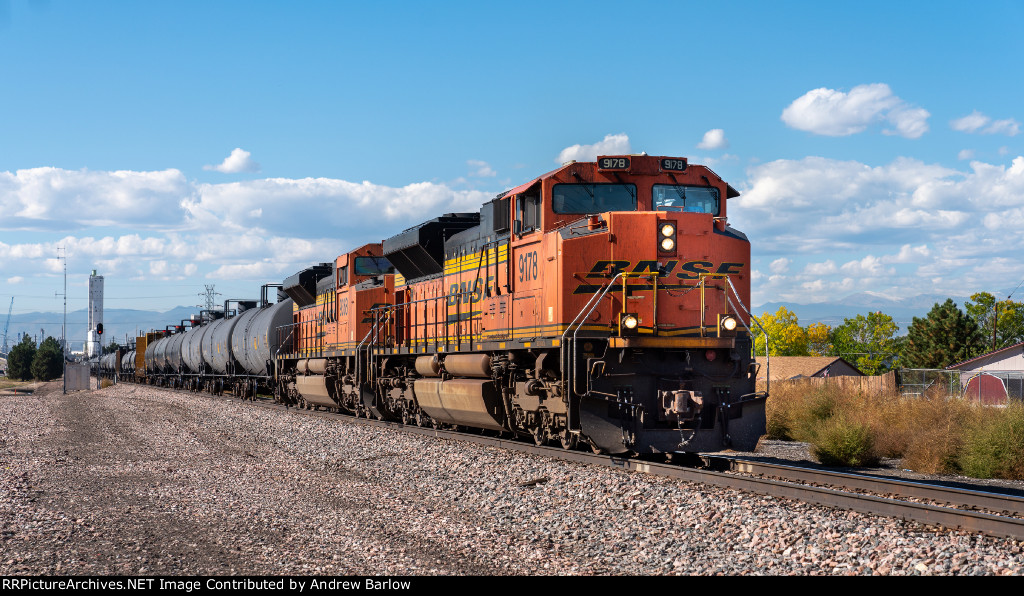
<svg viewBox="0 0 1024 596"><path fill-rule="evenodd" d="M603 156L502 197L509 284L526 305L510 335L556 338L560 383L532 388L566 406L551 416L517 390L520 419L611 453L754 449L765 396L748 328L750 243L726 223L737 196L682 158Z"/></svg>

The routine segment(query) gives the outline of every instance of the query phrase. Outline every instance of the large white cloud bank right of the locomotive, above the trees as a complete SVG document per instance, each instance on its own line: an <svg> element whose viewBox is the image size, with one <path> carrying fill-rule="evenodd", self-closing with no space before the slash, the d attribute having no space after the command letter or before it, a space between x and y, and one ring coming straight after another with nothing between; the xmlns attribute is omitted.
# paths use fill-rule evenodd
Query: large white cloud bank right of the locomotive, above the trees
<svg viewBox="0 0 1024 596"><path fill-rule="evenodd" d="M908 158L777 160L751 168L741 186L730 223L768 262L803 263L799 273L760 281L755 304L757 296L807 303L865 287L958 296L990 287L996 265L1006 279L1024 275L1012 257L1024 237L1011 231L1024 227L1024 157L967 169Z"/></svg>

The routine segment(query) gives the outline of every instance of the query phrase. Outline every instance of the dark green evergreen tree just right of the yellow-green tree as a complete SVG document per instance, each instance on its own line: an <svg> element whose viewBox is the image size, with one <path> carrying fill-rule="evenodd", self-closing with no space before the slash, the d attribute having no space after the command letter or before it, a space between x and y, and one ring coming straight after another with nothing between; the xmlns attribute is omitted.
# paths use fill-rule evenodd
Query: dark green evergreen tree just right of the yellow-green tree
<svg viewBox="0 0 1024 596"><path fill-rule="evenodd" d="M947 298L925 318L913 317L901 361L911 369L944 369L981 353L983 346L978 324Z"/></svg>

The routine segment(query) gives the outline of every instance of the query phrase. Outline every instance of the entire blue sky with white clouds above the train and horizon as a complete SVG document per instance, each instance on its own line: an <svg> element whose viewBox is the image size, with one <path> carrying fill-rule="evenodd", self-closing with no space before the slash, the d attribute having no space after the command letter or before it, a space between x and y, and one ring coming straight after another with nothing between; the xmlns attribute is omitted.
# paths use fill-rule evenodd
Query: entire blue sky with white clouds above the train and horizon
<svg viewBox="0 0 1024 596"><path fill-rule="evenodd" d="M1024 3L0 0L0 304L167 309L597 153L738 188L754 304L1024 280ZM1015 296L1019 299L1021 296Z"/></svg>

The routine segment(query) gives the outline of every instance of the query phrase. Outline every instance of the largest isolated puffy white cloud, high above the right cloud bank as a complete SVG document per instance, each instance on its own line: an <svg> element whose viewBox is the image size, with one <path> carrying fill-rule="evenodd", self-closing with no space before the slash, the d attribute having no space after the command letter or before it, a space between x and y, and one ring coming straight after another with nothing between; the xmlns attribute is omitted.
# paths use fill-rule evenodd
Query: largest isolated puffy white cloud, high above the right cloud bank
<svg viewBox="0 0 1024 596"><path fill-rule="evenodd" d="M792 128L826 136L847 136L888 122L885 134L918 138L928 132L928 111L893 94L889 85L858 85L849 92L821 87L804 93L782 111Z"/></svg>

